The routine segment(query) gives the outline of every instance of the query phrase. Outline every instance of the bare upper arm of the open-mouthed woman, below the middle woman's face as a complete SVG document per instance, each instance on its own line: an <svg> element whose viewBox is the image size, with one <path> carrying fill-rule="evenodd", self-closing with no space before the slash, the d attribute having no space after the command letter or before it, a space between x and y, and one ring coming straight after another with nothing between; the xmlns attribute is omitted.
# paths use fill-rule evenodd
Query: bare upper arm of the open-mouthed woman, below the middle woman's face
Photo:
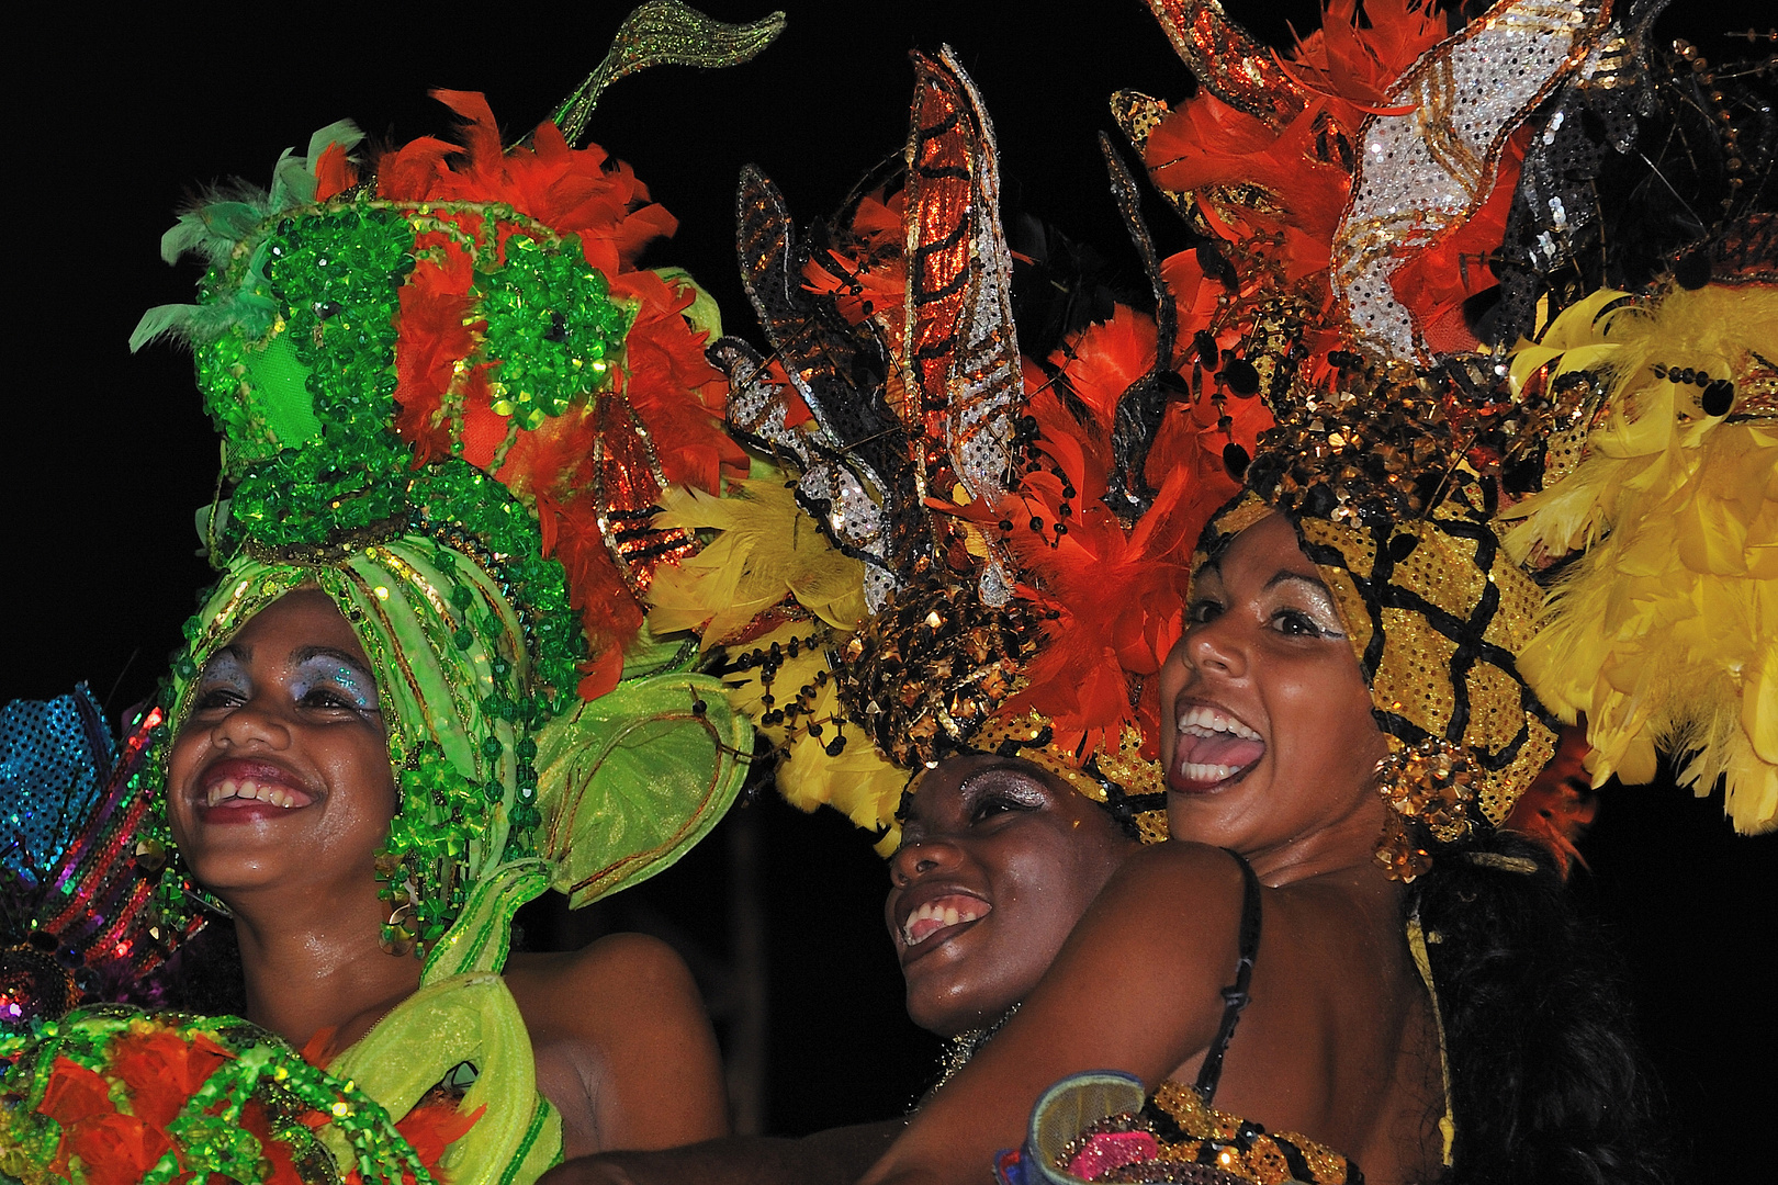
<svg viewBox="0 0 1778 1185"><path fill-rule="evenodd" d="M1124 1070L1154 1087L1202 1052L1236 963L1241 872L1214 847L1136 853L1019 1014L914 1116L862 1185L980 1185L1056 1080Z"/></svg>

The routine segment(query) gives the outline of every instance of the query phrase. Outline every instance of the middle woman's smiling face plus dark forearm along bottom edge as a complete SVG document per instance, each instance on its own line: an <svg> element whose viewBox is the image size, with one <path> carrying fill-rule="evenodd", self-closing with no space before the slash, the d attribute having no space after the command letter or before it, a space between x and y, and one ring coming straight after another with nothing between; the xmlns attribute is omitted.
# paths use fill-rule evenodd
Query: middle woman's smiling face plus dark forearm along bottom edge
<svg viewBox="0 0 1778 1185"><path fill-rule="evenodd" d="M907 1013L951 1038L949 1070L1037 986L1093 895L1138 847L1109 812L1060 778L985 753L919 780L889 858L884 917ZM661 1153L574 1160L549 1185L845 1185L907 1128L889 1119L804 1139L718 1139Z"/></svg>

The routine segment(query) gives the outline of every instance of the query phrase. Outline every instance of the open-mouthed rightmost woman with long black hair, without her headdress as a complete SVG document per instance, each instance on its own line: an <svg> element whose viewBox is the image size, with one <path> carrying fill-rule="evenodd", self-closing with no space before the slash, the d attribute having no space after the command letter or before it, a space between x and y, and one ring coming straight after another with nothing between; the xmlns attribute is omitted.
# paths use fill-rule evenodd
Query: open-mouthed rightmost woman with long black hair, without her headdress
<svg viewBox="0 0 1778 1185"><path fill-rule="evenodd" d="M1252 494L1205 531L1191 624L1161 673L1172 840L1109 879L1019 1014L866 1185L980 1180L983 1158L1021 1144L1045 1086L1101 1066L1154 1093L1150 1107L1179 1125L1170 1139L1189 1137L1186 1160L1243 1155L1252 1144L1229 1135L1246 1116L1317 1181L1355 1180L1353 1164L1373 1183L1476 1180L1453 1174L1454 1112L1456 1171L1469 1153L1529 1165L1511 1180L1568 1180L1540 1173L1588 1162L1607 1180L1662 1180L1645 1071L1549 853L1474 835L1440 847L1414 885L1387 874L1378 780L1390 743L1355 661L1351 602L1335 592L1351 577L1332 547L1310 561L1305 537L1335 538ZM1262 924L1243 982L1248 867ZM1422 913L1444 931L1442 1018L1415 966ZM1488 933L1501 926L1510 938ZM1230 982L1246 1000L1225 1009ZM1152 1160L1122 1171L1109 1180L1170 1180Z"/></svg>

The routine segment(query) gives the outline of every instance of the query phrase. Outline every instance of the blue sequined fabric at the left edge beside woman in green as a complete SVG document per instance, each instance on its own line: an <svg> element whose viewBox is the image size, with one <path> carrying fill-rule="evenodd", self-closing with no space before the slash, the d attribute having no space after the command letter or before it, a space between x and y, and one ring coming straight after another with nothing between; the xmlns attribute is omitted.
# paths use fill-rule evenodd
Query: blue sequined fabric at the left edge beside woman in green
<svg viewBox="0 0 1778 1185"><path fill-rule="evenodd" d="M110 734L85 684L0 709L0 876L37 885L55 867L110 764Z"/></svg>

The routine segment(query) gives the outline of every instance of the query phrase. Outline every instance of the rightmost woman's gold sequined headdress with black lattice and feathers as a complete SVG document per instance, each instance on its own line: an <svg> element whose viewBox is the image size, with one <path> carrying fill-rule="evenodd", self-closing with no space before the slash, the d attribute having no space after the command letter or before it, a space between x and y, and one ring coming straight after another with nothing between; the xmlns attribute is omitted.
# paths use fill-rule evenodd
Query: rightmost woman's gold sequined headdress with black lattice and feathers
<svg viewBox="0 0 1778 1185"><path fill-rule="evenodd" d="M1554 718L1533 689L1565 718L1588 709L1609 718L1597 778L1613 767L1648 778L1657 743L1675 752L1702 743L1687 776L1702 773L1707 785L1726 769L1735 796L1739 771L1746 785L1735 799L1737 823L1767 826L1778 799L1771 764L1778 727L1760 707L1771 698L1758 672L1769 666L1762 656L1773 631L1760 632L1769 609L1760 609L1758 574L1778 515L1769 480L1758 494L1760 480L1750 474L1766 441L1757 426L1758 375L1769 364L1758 361L1767 357L1758 343L1716 341L1741 332L1725 322L1755 332L1771 323L1755 311L1758 293L1742 284L1734 300L1725 297L1719 309L1732 307L1734 316L1712 327L1709 343L1691 320L1700 302L1687 304L1686 320L1698 332L1670 338L1673 361L1655 373L1662 389L1670 375L1682 384L1714 375L1710 398L1721 407L1700 405L1705 419L1726 418L1718 419L1723 432L1712 446L1714 492L1694 451L1668 474L1677 481L1671 497L1632 506L1625 496L1638 483L1627 483L1620 465L1600 485L1598 464L1611 464L1600 458L1586 471L1591 489L1577 492L1570 480L1566 490L1513 512L1533 519L1513 547L1501 545L1504 528L1495 522L1501 506L1566 478L1590 448L1618 449L1611 432L1623 428L1602 430L1613 414L1638 414L1634 396L1622 394L1630 386L1622 362L1627 354L1641 357L1646 345L1623 352L1591 336L1598 330L1582 332L1622 293L1582 302L1558 322L1558 343L1520 354L1513 373L1524 382L1508 389L1515 339L1613 274L1636 286L1655 277L1652 297L1670 309L1684 304L1661 297L1673 288L1671 275L1686 288L1710 279L1689 213L1710 204L1680 197L1678 210L1662 215L1657 201L1604 203L1607 158L1627 153L1638 135L1662 142L1650 151L1668 151L1666 172L1638 190L1659 195L1678 194L1670 179L1677 156L1698 174L1714 171L1721 194L1710 197L1721 197L1721 220L1703 238L1721 236L1721 227L1746 217L1750 201L1762 201L1744 176L1744 158L1762 158L1760 149L1737 146L1735 137L1762 126L1755 112L1766 108L1746 94L1725 98L1734 87L1705 82L1705 64L1689 46L1673 59L1654 53L1648 28L1662 0L1636 0L1622 14L1607 0L1501 0L1451 36L1440 14L1412 0L1369 5L1364 27L1355 5L1334 5L1330 21L1339 27L1284 57L1259 48L1214 0L1150 0L1150 7L1200 94L1170 110L1122 92L1113 110L1145 151L1157 188L1202 235L1197 254L1225 261L1225 293L1214 304L1195 302L1195 320L1191 293L1177 293L1181 334L1220 345L1225 370L1230 355L1246 361L1277 418L1245 474L1248 494L1218 515L1205 547L1227 545L1277 510L1321 567L1390 737L1385 798L1419 824L1385 837L1380 856L1390 871L1412 878L1426 867L1421 844L1428 835L1460 837L1470 799L1488 823L1506 817L1550 752ZM1748 114L1746 128L1737 130L1737 110ZM1662 115L1670 126L1639 131L1652 112L1670 112ZM1702 275L1686 281L1687 270ZM1622 338L1634 322L1611 323ZM1702 364L1705 355L1714 366ZM1718 375L1725 362L1730 373ZM1545 384L1545 373L1565 377ZM1616 402L1602 394L1611 375L1618 375ZM1680 425L1700 409L1680 409ZM1737 419L1750 426L1735 430ZM1659 432L1655 423L1648 432ZM1686 442L1703 439L1691 432ZM1734 464L1725 462L1730 455ZM1650 464L1630 467L1641 473ZM1689 474L1689 485L1675 474ZM1616 506L1595 501L1600 496L1616 497ZM1652 641L1662 629L1646 613L1600 613L1607 600L1623 604L1609 588L1629 592L1643 561L1625 567L1622 554L1590 554L1577 570L1593 572L1591 583L1582 588L1570 574L1554 602L1518 565L1533 544L1558 556L1598 540L1611 524L1622 540L1654 547L1661 531L1645 529L1655 522L1650 505L1680 521L1741 524L1718 547L1691 547L1694 556L1721 554L1682 560L1698 581L1668 606L1671 620L1702 622L1705 586L1714 588L1726 597L1723 606L1741 606L1723 620L1744 643L1719 645L1710 657L1698 647L1655 657L1673 643ZM1671 544L1673 531L1661 537ZM1556 645L1563 620L1568 641ZM1600 636L1600 622L1618 629L1616 638ZM1650 641L1632 641L1630 632ZM1558 652L1563 661L1552 657ZM1627 679L1630 670L1639 673ZM1682 670L1696 680L1677 677ZM1657 672L1675 677L1670 691L1655 693ZM1723 695L1705 709L1682 704L1682 686L1719 686Z"/></svg>

